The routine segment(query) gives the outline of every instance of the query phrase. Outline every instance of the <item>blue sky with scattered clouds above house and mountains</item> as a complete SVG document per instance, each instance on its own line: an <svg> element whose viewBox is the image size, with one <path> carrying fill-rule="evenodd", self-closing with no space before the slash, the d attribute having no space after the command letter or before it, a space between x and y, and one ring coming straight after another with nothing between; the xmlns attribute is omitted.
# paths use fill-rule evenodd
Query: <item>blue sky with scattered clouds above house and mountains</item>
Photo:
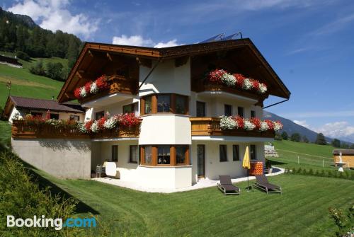
<svg viewBox="0 0 354 237"><path fill-rule="evenodd" d="M163 47L241 31L292 92L270 112L354 141L354 1L5 0L2 7L95 42Z"/></svg>

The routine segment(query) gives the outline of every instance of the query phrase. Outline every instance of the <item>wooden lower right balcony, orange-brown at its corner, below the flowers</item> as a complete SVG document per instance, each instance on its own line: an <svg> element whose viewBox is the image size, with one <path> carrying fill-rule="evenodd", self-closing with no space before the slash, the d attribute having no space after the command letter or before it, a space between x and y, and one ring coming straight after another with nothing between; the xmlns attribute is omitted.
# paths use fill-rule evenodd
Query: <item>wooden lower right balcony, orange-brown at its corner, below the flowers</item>
<svg viewBox="0 0 354 237"><path fill-rule="evenodd" d="M234 136L274 138L275 132L256 132L245 130L224 131L220 128L218 117L190 117L192 136Z"/></svg>

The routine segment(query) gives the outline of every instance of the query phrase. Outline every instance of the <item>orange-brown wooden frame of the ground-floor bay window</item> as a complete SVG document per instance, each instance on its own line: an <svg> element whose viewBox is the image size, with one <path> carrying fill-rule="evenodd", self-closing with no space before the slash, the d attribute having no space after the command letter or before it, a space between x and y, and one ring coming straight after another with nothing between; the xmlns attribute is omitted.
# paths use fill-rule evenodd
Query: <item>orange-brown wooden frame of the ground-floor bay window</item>
<svg viewBox="0 0 354 237"><path fill-rule="evenodd" d="M145 163L145 146L152 146L152 163ZM157 153L158 146L170 146L170 163L169 164L158 164L157 163ZM176 163L176 146L186 146L185 149L185 163ZM190 148L189 145L183 144L159 144L159 145L144 145L140 146L140 165L142 166L166 166L166 167L176 167L176 166L190 166Z"/></svg>

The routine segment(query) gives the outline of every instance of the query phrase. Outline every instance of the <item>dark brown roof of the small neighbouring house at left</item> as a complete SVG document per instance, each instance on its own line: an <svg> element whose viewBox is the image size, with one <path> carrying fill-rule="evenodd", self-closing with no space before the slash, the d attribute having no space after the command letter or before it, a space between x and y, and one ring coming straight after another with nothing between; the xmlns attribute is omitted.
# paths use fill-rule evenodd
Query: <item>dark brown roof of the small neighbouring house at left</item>
<svg viewBox="0 0 354 237"><path fill-rule="evenodd" d="M83 113L85 110L81 105L73 103L62 103L59 104L57 100L44 100L44 99L34 99L34 98L24 98L20 96L8 96L6 105L4 108L4 117L8 117L12 107L25 108L32 110L50 110L55 112L80 112Z"/></svg>

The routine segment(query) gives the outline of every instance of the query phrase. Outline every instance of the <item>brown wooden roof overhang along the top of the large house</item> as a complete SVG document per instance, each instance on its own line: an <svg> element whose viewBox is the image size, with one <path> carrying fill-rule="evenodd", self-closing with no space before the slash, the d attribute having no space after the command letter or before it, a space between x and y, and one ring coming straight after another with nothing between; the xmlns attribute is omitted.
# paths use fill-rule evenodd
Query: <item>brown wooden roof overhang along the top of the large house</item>
<svg viewBox="0 0 354 237"><path fill-rule="evenodd" d="M193 57L202 54L210 54L212 52L234 50L237 48L244 48L247 52L251 52L255 58L254 60L258 61L257 64L263 68L263 71L266 71L266 73L264 73L265 77L267 77L268 80L271 79L274 81L273 84L278 88L277 91L270 92L271 95L282 98L290 98L290 91L287 89L285 84L280 80L279 76L275 73L272 67L270 67L270 64L268 64L253 42L249 38L245 38L239 40L225 40L165 48L109 45L96 42L86 42L79 54L78 59L76 60L76 63L74 64L74 67L69 73L67 81L65 81L62 86L57 99L59 103L74 100L72 93L69 92L68 88L72 90L74 86L78 85L80 76L76 76L76 74L78 74L82 64L86 64L86 67L89 67L87 65L90 65L90 57L95 57L95 54L106 55L108 59L110 59L111 54L118 55L117 57L135 58L137 59L135 61L138 63L140 59L183 59L183 57ZM101 64L104 63L101 62Z"/></svg>

